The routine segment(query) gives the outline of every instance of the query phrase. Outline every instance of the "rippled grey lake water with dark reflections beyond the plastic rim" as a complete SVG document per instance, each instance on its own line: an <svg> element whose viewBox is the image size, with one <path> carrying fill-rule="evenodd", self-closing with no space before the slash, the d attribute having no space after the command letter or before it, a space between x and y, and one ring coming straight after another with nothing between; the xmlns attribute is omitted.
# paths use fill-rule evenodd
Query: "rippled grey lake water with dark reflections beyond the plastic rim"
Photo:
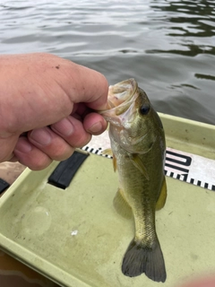
<svg viewBox="0 0 215 287"><path fill-rule="evenodd" d="M134 77L158 111L215 124L214 8L214 0L1 0L0 54L54 53L111 84Z"/></svg>

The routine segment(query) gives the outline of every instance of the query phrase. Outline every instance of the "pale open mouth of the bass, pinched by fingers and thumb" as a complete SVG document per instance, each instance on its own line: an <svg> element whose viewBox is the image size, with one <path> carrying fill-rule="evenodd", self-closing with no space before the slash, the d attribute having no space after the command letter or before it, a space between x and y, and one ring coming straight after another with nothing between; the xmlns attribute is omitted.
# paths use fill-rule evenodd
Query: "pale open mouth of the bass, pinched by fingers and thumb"
<svg viewBox="0 0 215 287"><path fill-rule="evenodd" d="M131 107L137 89L138 84L133 78L110 85L107 96L108 109L99 111L99 114L108 122L118 122L116 118L119 119L119 116Z"/></svg>

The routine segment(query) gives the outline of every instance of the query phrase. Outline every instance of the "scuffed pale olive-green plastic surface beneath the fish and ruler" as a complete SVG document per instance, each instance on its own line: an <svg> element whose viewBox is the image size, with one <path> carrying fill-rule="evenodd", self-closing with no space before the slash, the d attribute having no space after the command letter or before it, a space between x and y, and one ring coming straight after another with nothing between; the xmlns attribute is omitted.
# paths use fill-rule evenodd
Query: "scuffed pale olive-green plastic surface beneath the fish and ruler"
<svg viewBox="0 0 215 287"><path fill-rule="evenodd" d="M168 146L214 156L213 126L162 119ZM176 129L181 136L175 136ZM144 274L128 278L121 273L133 221L114 210L117 176L111 160L91 154L65 190L47 184L56 165L25 170L0 199L1 248L62 286L159 286ZM156 213L156 225L168 274L164 286L172 287L215 271L215 194L167 180L168 201Z"/></svg>

